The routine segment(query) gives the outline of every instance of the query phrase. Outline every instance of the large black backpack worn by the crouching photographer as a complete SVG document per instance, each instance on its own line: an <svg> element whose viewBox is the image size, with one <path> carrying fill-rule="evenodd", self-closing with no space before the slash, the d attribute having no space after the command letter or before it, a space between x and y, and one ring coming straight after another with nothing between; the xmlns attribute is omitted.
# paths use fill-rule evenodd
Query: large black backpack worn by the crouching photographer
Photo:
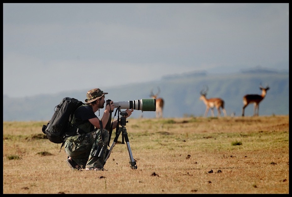
<svg viewBox="0 0 292 197"><path fill-rule="evenodd" d="M47 125L43 125L42 132L47 135L47 138L56 144L63 143L66 137L76 135L76 130L73 131L71 119L73 118L74 111L83 102L74 98L63 98L61 103L55 106L55 113Z"/></svg>

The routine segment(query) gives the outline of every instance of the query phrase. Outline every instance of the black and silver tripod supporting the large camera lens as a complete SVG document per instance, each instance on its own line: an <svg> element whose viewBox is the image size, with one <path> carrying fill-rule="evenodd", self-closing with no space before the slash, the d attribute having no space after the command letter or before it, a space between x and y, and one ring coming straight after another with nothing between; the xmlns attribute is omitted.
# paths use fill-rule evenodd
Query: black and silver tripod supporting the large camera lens
<svg viewBox="0 0 292 197"><path fill-rule="evenodd" d="M107 153L107 155L106 155L106 157L104 159L104 163L106 163L107 159L109 158L109 155L112 152L113 147L118 142L118 137L119 137L120 133L122 133L122 137L123 137L122 143L124 143L124 139L125 139L125 141L127 143L128 152L129 152L129 157L130 157L129 163L131 165L131 168L132 169L137 169L136 161L133 158L132 151L131 151L131 148L130 148L127 129L125 127L126 126L126 122L128 122L128 121L126 121L126 117L125 117L125 115L127 115L127 113L125 111L121 111L120 115L122 116L121 117L121 122L120 122L120 127L119 127L118 131L116 132L116 137L114 138L113 144L112 144L111 148L109 149L109 151L108 151L108 153Z"/></svg>

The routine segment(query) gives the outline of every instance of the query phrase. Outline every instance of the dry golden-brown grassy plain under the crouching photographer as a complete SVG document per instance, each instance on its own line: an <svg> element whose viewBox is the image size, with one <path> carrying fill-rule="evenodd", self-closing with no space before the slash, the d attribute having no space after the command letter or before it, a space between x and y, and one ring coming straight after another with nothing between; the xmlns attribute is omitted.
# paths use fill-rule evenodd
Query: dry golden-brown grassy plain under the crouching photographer
<svg viewBox="0 0 292 197"><path fill-rule="evenodd" d="M3 122L3 194L289 194L289 115L128 121L137 169L120 136L99 172L71 170L47 122Z"/></svg>

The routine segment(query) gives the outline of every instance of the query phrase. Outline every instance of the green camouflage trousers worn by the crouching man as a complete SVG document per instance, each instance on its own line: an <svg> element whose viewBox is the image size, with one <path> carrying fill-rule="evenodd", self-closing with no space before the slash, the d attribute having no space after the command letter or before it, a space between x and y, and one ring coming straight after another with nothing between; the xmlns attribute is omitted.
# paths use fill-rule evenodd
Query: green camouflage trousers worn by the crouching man
<svg viewBox="0 0 292 197"><path fill-rule="evenodd" d="M102 141L100 129L80 136L68 137L64 143L66 154L71 157L80 167L102 168L106 157L109 133L103 130L104 141ZM101 157L94 156L94 153L102 147Z"/></svg>

